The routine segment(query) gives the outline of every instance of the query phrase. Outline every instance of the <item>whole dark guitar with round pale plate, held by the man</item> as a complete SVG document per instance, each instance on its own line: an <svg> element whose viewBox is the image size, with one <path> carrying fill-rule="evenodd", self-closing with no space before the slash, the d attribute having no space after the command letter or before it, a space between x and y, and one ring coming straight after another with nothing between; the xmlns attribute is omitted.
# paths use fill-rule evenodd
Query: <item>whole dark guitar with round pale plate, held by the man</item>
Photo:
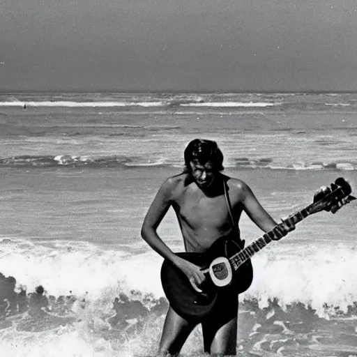
<svg viewBox="0 0 357 357"><path fill-rule="evenodd" d="M331 188L321 188L314 195L312 204L287 218L290 222L301 222L307 216L320 211L336 213L342 206L356 199L350 195L351 186L343 178L331 184ZM280 238L272 229L244 248L244 241L219 238L207 252L181 252L179 257L196 264L206 275L200 286L202 293L193 289L187 276L171 261L165 259L161 267L161 282L165 295L174 311L188 320L200 321L212 310L219 289L228 285L236 294L247 290L252 283L253 270L250 258Z"/></svg>

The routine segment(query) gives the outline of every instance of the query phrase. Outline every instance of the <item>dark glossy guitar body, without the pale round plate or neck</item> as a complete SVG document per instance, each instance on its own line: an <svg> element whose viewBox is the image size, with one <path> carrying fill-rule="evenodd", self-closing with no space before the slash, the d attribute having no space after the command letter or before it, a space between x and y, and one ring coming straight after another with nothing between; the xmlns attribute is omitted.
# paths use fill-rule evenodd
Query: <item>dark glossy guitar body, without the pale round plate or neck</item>
<svg viewBox="0 0 357 357"><path fill-rule="evenodd" d="M183 252L177 253L177 255L204 270L210 266L215 258L231 257L240 252L241 249L243 249L243 243L237 243L236 241L232 241L231 238L222 237L215 241L207 252ZM252 278L252 264L250 259L248 259L233 273L233 279L229 286L234 284L234 291L236 291L238 296L238 294L241 294L250 287ZM195 291L186 275L167 259L162 264L161 282L171 307L181 317L190 321L200 321L206 317L213 309L220 289L225 289L225 287L217 287L213 284L208 275L206 282L200 287L203 294Z"/></svg>

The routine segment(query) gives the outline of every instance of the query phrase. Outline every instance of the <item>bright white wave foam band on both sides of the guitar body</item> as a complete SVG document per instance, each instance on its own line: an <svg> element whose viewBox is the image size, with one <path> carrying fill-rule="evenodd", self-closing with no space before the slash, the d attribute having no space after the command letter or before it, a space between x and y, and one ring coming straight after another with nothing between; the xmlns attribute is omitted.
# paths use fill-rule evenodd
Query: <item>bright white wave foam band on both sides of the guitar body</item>
<svg viewBox="0 0 357 357"><path fill-rule="evenodd" d="M15 276L17 284L31 291L43 284L55 296L69 291L82 296L88 291L96 301L111 300L118 291L128 296L164 296L159 278L162 258L151 250L133 255L120 248L102 250L89 243L64 241L52 248L24 246L20 241L2 248L1 273ZM243 296L258 298L261 306L278 298L283 305L299 301L320 313L324 304L346 310L357 301L356 261L357 250L342 243L310 245L300 252L278 246L253 257L255 279Z"/></svg>

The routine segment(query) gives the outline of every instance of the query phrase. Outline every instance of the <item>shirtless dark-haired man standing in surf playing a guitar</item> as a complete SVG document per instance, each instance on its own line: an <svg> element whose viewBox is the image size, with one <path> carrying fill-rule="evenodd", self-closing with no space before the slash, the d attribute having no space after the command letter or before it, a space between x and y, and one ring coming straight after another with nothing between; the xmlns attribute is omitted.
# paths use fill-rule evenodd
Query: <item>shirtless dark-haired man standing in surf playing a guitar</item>
<svg viewBox="0 0 357 357"><path fill-rule="evenodd" d="M223 175L223 154L211 140L195 139L184 153L185 170L172 176L161 186L146 213L142 238L162 257L169 259L187 275L192 287L200 291L205 276L200 269L177 257L158 236L157 228L170 206L181 227L185 250L205 252L220 237L239 232L242 211L264 232L275 229L275 236L285 236L295 229L291 222L280 225L259 204L243 181ZM225 187L231 213L225 199ZM233 222L232 222L233 220ZM233 234L232 239L239 239ZM218 298L210 312L209 323L202 321L204 351L213 355L236 354L238 297L230 292ZM169 307L160 340L161 355L177 355L190 335L194 323L185 320Z"/></svg>

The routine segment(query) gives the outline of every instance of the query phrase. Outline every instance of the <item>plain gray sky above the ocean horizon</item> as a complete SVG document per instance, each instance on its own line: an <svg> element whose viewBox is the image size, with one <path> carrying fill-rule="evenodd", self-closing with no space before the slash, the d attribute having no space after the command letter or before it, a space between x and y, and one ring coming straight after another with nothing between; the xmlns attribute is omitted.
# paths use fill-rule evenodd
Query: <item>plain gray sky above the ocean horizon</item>
<svg viewBox="0 0 357 357"><path fill-rule="evenodd" d="M0 91L356 91L357 1L1 0Z"/></svg>

